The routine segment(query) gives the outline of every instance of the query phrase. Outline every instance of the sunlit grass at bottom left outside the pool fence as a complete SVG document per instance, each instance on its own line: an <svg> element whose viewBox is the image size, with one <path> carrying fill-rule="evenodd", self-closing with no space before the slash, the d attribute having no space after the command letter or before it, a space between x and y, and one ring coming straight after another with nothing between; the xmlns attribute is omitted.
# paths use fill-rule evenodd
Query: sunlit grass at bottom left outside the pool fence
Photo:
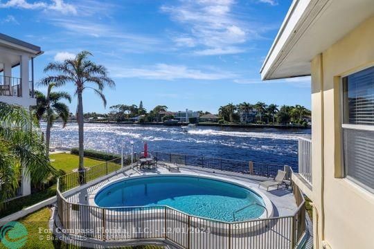
<svg viewBox="0 0 374 249"><path fill-rule="evenodd" d="M78 246L66 245L62 241L57 240L49 231L48 220L51 217L51 210L49 208L42 208L41 210L29 214L18 221L22 223L27 232L28 239L22 248L79 248ZM54 240L53 240L54 239ZM124 247L126 249L159 249L158 246L136 246ZM0 243L0 249L6 249Z"/></svg>

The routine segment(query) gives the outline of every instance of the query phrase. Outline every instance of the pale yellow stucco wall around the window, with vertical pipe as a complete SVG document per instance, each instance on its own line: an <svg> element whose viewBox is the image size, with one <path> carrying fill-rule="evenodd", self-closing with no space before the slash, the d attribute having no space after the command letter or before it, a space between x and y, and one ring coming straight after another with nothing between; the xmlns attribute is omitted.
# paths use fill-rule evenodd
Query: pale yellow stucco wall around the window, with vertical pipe
<svg viewBox="0 0 374 249"><path fill-rule="evenodd" d="M340 77L370 65L374 65L374 17L311 62L311 197L318 248L322 240L331 248L374 248L374 194L341 178L340 160Z"/></svg>

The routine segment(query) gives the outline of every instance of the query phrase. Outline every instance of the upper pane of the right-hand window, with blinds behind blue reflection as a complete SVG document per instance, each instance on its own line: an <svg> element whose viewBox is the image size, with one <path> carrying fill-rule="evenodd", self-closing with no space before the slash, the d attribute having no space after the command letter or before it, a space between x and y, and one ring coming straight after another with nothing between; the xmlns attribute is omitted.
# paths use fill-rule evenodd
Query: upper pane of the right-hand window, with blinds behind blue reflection
<svg viewBox="0 0 374 249"><path fill-rule="evenodd" d="M374 67L344 77L344 98L348 124L374 124ZM348 113L347 113L348 111Z"/></svg>

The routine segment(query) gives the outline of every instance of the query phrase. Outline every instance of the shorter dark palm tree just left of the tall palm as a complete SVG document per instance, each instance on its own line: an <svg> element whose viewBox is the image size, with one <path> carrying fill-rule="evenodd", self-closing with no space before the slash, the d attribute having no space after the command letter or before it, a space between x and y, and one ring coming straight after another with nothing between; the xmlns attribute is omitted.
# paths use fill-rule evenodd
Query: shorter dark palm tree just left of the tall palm
<svg viewBox="0 0 374 249"><path fill-rule="evenodd" d="M54 83L48 84L47 95L39 91L35 91L37 99L37 105L33 107L35 109L35 115L37 119L42 120L43 116L46 116L46 156L49 156L49 142L51 140L51 128L53 122L57 117L60 117L65 127L66 122L69 118L69 107L66 104L60 102L60 100L68 100L71 102L71 96L69 93L64 91L52 92L51 90L55 86Z"/></svg>

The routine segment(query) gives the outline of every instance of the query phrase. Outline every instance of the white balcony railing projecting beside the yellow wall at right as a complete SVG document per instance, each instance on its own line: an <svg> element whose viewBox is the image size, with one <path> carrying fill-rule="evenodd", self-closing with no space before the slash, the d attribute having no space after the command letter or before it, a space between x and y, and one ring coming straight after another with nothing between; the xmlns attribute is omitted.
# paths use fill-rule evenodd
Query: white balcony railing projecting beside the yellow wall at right
<svg viewBox="0 0 374 249"><path fill-rule="evenodd" d="M299 138L299 174L312 185L312 140Z"/></svg>

